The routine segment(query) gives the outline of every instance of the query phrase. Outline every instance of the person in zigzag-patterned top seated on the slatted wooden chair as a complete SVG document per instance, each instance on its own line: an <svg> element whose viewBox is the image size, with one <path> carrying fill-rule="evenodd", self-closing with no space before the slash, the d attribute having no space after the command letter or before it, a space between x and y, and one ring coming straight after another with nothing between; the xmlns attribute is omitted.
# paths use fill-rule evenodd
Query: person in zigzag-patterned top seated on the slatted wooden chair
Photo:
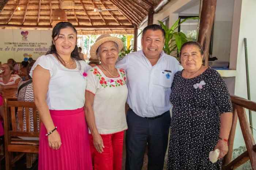
<svg viewBox="0 0 256 170"><path fill-rule="evenodd" d="M29 101L34 102L34 92L33 92L33 82L32 78L29 76L29 72L34 65L35 61L32 61L29 63L29 65L26 67L27 77L29 77L29 80L20 81L18 84L18 101ZM26 131L26 116L25 116L25 109L23 111L23 131ZM18 120L18 119L16 119ZM34 123L33 123L33 109L29 108L29 120L30 120L30 131L34 131ZM39 115L37 113L37 128L39 131ZM18 124L18 123L17 123ZM19 129L19 127L18 127Z"/></svg>

